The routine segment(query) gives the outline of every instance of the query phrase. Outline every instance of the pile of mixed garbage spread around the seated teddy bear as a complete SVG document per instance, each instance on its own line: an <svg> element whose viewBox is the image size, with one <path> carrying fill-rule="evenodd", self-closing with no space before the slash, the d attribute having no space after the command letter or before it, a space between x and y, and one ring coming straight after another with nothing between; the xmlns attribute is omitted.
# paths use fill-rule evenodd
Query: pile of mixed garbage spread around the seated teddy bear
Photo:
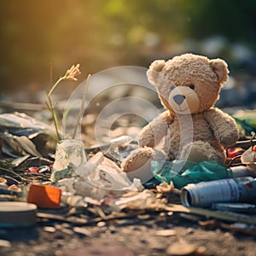
<svg viewBox="0 0 256 256"><path fill-rule="evenodd" d="M75 139L54 143L52 129L26 114L0 114L0 225L27 227L43 218L86 225L141 212L183 212L255 235L256 141L249 136L256 115L245 117L236 119L246 140L227 149L226 166L154 160L152 178L142 183L120 169L138 147L131 137L116 137L104 152L84 149Z"/></svg>

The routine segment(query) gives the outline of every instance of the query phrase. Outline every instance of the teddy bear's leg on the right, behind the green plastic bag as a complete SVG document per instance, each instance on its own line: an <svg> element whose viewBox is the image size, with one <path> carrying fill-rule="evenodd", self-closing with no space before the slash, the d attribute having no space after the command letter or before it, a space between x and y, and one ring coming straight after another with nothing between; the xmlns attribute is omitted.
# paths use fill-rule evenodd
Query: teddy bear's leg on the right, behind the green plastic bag
<svg viewBox="0 0 256 256"><path fill-rule="evenodd" d="M220 164L224 164L224 154L213 148L210 143L197 141L186 145L180 158L199 163L204 160L217 160Z"/></svg>

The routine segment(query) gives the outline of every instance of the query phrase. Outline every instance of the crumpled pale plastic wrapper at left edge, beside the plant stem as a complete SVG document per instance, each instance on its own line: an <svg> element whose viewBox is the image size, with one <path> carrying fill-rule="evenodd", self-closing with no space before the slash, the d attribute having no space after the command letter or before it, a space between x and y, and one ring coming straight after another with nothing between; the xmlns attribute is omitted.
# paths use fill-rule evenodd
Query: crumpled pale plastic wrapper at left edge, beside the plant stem
<svg viewBox="0 0 256 256"><path fill-rule="evenodd" d="M48 156L55 150L55 131L49 125L25 113L0 114L0 133L3 133L3 154Z"/></svg>

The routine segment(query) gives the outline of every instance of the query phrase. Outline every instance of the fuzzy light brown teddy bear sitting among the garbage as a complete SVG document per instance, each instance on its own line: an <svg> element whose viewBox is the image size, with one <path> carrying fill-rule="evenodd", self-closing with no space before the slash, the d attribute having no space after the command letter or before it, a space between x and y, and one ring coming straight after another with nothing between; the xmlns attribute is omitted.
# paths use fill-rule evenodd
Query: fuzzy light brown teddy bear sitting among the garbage
<svg viewBox="0 0 256 256"><path fill-rule="evenodd" d="M236 143L239 132L230 115L212 106L228 73L225 61L201 55L154 61L148 81L167 110L143 128L140 148L122 163L123 171L150 172L150 160L218 160L224 164L224 148Z"/></svg>

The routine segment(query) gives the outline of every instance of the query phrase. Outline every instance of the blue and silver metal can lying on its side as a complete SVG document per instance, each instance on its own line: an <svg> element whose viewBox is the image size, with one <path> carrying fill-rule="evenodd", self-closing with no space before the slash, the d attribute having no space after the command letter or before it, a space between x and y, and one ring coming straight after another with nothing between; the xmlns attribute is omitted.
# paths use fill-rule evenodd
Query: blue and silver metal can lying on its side
<svg viewBox="0 0 256 256"><path fill-rule="evenodd" d="M181 190L181 201L185 207L211 207L216 202L247 201L252 198L256 198L256 179L253 177L190 183Z"/></svg>

